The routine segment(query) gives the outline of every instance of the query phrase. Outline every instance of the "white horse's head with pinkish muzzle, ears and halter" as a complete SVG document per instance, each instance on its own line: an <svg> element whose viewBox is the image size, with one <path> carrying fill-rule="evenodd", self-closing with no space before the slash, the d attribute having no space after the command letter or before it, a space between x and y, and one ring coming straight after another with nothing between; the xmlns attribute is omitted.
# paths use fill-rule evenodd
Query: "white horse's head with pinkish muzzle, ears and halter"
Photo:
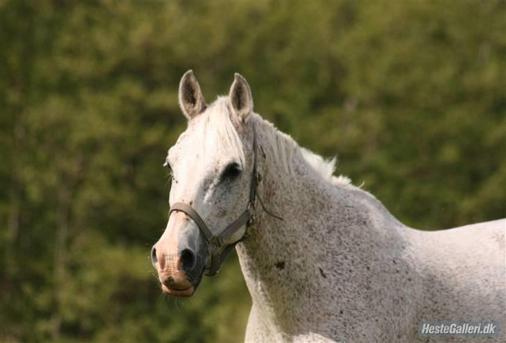
<svg viewBox="0 0 506 343"><path fill-rule="evenodd" d="M191 296L246 233L256 188L250 86L235 75L228 97L210 106L190 70L179 84L188 127L168 151L168 224L152 248L165 294Z"/></svg>

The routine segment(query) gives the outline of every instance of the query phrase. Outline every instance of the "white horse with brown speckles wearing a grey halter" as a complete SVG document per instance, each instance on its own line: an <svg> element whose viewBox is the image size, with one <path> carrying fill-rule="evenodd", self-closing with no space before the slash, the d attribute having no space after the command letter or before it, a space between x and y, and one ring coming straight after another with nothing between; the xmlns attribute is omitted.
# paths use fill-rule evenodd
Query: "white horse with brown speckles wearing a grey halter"
<svg viewBox="0 0 506 343"><path fill-rule="evenodd" d="M172 210L152 250L163 292L192 295L242 241L247 342L436 340L418 335L422 321L506 330L505 219L435 232L405 226L332 176L334 160L253 112L238 74L229 97L207 106L189 71L179 103L188 128L168 153Z"/></svg>

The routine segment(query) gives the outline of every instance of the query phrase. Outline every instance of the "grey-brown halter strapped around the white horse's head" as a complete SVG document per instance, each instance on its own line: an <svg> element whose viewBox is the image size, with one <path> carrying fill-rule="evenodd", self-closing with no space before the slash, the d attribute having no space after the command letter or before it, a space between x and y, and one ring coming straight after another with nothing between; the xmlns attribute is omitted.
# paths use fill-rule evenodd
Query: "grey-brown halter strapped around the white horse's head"
<svg viewBox="0 0 506 343"><path fill-rule="evenodd" d="M174 203L169 210L169 216L170 213L173 211L181 211L186 213L193 221L195 221L195 224L199 227L199 230L204 234L206 237L207 242L207 249L209 251L209 256L211 256L211 261L207 263L206 265L206 276L215 276L218 274L218 270L220 269L220 265L222 262L229 256L232 250L234 250L236 244L238 242L242 241L245 237L247 237L247 233L243 237L240 238L240 240L237 240L236 242L232 244L228 244L225 246L225 249L220 253L220 250L225 245L225 242L232 236L234 233L236 233L239 228L241 228L245 224L252 224L254 221L254 215L255 215L255 201L256 197L258 196L256 194L256 184L257 182L261 181L260 174L256 171L256 135L253 131L253 174L251 178L250 183L250 202L247 203L247 208L243 212L242 215L240 215L232 224L227 226L225 230L223 230L221 233L218 233L218 235L215 235L210 229L209 226L206 225L206 222L200 215L197 213L197 211L188 205L187 203ZM261 203L261 201L260 201ZM263 208L263 203L261 203ZM267 211L268 212L268 211ZM270 212L268 212L270 214ZM272 215L272 214L271 214ZM274 215L274 217L277 217ZM278 217L281 219L280 217Z"/></svg>

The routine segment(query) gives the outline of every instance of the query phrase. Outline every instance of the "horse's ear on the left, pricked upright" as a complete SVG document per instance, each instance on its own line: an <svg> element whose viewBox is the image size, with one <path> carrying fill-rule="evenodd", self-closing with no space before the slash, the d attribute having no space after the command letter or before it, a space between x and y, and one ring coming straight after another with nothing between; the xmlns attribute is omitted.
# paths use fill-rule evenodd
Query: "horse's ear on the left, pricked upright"
<svg viewBox="0 0 506 343"><path fill-rule="evenodd" d="M179 106L188 120L204 112L207 107L199 82L191 69L184 73L179 83Z"/></svg>

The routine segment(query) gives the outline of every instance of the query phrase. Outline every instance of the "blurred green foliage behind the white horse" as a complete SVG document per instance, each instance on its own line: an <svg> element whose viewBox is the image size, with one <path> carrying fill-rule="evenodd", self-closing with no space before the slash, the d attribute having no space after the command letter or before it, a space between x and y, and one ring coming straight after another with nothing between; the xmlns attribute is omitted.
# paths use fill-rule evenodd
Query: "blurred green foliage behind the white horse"
<svg viewBox="0 0 506 343"><path fill-rule="evenodd" d="M148 260L192 68L338 155L409 226L506 214L505 1L0 1L0 341L239 342L236 258L193 298Z"/></svg>

